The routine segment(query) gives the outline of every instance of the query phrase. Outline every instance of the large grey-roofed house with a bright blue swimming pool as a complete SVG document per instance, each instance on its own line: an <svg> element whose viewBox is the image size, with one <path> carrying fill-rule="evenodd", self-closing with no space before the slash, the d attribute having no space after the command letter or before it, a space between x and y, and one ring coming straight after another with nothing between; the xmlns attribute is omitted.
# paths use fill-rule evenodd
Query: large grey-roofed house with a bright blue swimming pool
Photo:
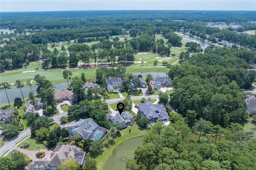
<svg viewBox="0 0 256 170"><path fill-rule="evenodd" d="M79 134L83 139L98 140L107 132L106 128L99 126L92 118L80 119L68 126L63 126L70 135Z"/></svg>

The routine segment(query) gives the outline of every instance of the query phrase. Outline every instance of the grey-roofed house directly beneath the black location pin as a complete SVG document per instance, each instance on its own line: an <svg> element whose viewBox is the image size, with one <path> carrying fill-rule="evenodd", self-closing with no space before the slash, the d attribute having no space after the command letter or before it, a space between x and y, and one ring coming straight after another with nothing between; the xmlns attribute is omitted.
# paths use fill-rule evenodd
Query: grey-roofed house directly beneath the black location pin
<svg viewBox="0 0 256 170"><path fill-rule="evenodd" d="M123 128L126 128L128 125L130 125L132 122L134 122L134 117L130 112L125 111L121 115L118 113L115 116L107 114L107 120L111 124L115 122L120 123L123 129Z"/></svg>

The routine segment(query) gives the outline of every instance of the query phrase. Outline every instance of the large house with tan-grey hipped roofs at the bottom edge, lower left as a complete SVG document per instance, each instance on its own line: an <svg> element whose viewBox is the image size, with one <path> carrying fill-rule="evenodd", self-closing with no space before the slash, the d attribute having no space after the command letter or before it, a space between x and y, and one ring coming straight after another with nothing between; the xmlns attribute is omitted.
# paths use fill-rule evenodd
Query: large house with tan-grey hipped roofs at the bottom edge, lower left
<svg viewBox="0 0 256 170"><path fill-rule="evenodd" d="M75 159L77 164L83 167L85 152L74 145L61 145L55 147L55 152L51 153L50 160L35 160L28 164L28 170L57 170L58 165L67 159Z"/></svg>

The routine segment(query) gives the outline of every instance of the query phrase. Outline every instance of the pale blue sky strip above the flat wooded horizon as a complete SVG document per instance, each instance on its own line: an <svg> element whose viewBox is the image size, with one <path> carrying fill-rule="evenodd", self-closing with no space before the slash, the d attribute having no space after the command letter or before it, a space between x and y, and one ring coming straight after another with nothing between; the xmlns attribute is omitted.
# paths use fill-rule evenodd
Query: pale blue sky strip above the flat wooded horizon
<svg viewBox="0 0 256 170"><path fill-rule="evenodd" d="M256 0L0 0L1 12L81 10L256 11Z"/></svg>

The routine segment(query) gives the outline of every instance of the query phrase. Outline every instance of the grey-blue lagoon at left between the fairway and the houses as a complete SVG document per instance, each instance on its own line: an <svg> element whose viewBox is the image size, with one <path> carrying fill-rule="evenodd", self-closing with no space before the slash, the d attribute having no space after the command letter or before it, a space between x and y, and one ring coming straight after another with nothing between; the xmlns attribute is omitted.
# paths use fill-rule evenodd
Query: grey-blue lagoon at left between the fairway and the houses
<svg viewBox="0 0 256 170"><path fill-rule="evenodd" d="M61 90L61 89L67 88L68 84L67 83L57 83L57 84L53 84L53 86L55 87L55 91L57 91L57 90ZM25 98L28 97L28 94L31 91L31 89L36 94L37 86L31 87L31 88L30 87L22 88L23 96ZM9 97L10 103L14 102L14 99L17 98L17 97L22 98L20 89L17 89L17 88L6 89L6 92L7 92L7 95ZM8 103L8 100L7 100L5 91L4 90L0 90L0 105L7 104L7 103Z"/></svg>

